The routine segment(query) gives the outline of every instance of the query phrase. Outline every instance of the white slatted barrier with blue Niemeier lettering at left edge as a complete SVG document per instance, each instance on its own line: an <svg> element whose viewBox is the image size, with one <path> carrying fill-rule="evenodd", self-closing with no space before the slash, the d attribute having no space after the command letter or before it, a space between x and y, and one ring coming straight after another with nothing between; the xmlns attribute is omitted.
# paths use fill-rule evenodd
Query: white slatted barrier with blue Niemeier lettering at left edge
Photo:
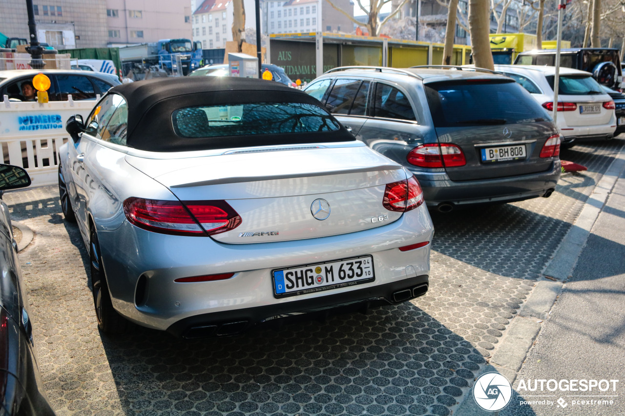
<svg viewBox="0 0 625 416"><path fill-rule="evenodd" d="M31 177L31 187L57 182L59 147L71 141L65 131L70 116L84 119L95 101L0 102L0 146L6 164L24 167Z"/></svg>

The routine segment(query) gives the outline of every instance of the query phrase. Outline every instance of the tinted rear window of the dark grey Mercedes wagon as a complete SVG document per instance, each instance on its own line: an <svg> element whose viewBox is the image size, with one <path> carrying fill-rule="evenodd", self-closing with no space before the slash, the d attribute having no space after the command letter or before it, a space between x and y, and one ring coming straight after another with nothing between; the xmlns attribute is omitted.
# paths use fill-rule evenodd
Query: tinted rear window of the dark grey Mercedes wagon
<svg viewBox="0 0 625 416"><path fill-rule="evenodd" d="M487 126L551 120L523 87L507 80L426 84L436 127Z"/></svg>

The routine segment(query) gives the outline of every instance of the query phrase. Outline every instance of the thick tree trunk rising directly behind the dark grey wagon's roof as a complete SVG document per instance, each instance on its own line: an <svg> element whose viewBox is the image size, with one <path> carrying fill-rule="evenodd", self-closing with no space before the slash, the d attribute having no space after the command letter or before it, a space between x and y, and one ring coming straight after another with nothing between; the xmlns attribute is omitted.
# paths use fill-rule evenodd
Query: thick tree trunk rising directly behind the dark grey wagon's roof
<svg viewBox="0 0 625 416"><path fill-rule="evenodd" d="M488 0L469 0L469 34L473 61L476 67L494 70L488 36L490 24Z"/></svg>

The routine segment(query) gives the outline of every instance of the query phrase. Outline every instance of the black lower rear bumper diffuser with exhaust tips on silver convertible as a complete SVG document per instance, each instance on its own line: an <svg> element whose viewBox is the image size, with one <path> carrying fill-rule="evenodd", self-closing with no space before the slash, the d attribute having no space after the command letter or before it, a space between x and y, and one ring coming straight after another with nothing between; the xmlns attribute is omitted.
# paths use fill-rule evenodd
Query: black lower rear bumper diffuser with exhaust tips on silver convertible
<svg viewBox="0 0 625 416"><path fill-rule="evenodd" d="M426 294L427 275L397 280L383 285L352 290L322 299L304 299L286 304L265 305L179 320L167 329L176 337L187 339L229 337L251 329L256 324L296 319L302 315L322 316L329 312L348 312L369 307L394 305Z"/></svg>

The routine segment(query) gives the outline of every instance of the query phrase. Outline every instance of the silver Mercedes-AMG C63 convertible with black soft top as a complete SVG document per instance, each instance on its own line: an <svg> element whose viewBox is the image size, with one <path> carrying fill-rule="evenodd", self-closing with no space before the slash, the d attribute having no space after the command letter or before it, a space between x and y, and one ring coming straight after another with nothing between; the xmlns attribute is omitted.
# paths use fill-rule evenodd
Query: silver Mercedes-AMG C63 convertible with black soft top
<svg viewBox="0 0 625 416"><path fill-rule="evenodd" d="M154 79L70 117L59 193L103 332L241 334L427 291L419 183L277 82Z"/></svg>

